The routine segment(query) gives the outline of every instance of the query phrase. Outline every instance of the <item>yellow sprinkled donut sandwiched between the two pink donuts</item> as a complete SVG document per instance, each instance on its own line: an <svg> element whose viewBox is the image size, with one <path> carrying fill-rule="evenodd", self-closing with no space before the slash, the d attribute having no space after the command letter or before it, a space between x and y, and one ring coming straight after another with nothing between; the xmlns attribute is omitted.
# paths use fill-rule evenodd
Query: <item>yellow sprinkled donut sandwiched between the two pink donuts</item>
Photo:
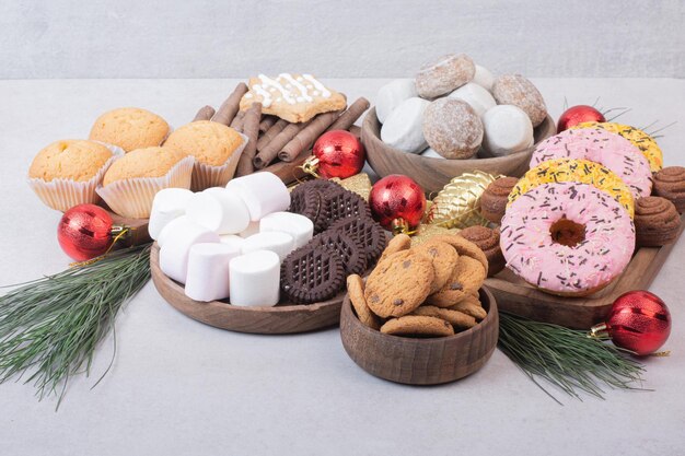
<svg viewBox="0 0 685 456"><path fill-rule="evenodd" d="M507 207L533 188L549 183L577 182L594 185L618 201L634 215L635 203L628 186L608 168L588 160L548 160L530 169L509 194Z"/></svg>

